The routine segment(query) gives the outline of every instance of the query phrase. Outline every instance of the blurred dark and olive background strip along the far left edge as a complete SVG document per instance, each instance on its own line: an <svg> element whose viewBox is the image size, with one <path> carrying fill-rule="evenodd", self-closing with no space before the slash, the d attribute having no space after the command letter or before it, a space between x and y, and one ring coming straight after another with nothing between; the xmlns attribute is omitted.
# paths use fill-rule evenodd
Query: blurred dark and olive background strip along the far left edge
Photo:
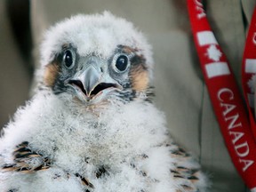
<svg viewBox="0 0 256 192"><path fill-rule="evenodd" d="M0 127L28 100L33 76L29 0L0 0Z"/></svg>

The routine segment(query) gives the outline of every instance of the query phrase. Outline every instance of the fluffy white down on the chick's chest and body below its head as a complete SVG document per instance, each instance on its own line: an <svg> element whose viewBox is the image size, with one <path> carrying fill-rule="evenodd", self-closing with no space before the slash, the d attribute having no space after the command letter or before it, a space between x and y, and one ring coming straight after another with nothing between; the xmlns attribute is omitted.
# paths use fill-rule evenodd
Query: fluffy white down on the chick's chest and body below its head
<svg viewBox="0 0 256 192"><path fill-rule="evenodd" d="M166 147L164 118L150 104L138 101L94 112L92 109L78 111L52 95L47 100L38 96L18 113L15 124L10 124L5 131L1 164L14 164L12 151L24 141L28 142L29 153L47 157L49 163L44 164L45 169L35 172L33 169L37 169L42 159L33 162L27 159L26 163L30 164L27 170L2 172L0 178L8 188L140 191L149 189L152 183L157 186L164 177L169 180L172 158L171 147ZM25 121L27 118L29 123ZM19 152L24 154L24 150ZM28 180L29 187L20 185ZM70 186L72 190L68 189ZM167 186L172 188L170 183Z"/></svg>

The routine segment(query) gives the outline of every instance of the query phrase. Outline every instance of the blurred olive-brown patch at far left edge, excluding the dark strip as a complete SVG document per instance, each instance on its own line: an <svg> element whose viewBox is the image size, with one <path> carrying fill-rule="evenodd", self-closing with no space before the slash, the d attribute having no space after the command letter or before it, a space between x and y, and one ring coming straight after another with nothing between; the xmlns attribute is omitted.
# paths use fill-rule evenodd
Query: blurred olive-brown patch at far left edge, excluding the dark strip
<svg viewBox="0 0 256 192"><path fill-rule="evenodd" d="M29 72L7 14L6 1L0 0L0 129L24 100L28 99Z"/></svg>

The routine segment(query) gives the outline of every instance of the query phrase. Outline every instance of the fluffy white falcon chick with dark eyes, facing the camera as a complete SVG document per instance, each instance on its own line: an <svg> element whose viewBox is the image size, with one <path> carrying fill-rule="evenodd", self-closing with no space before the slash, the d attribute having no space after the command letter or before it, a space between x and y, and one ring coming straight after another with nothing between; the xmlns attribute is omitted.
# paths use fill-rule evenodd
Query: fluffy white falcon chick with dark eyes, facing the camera
<svg viewBox="0 0 256 192"><path fill-rule="evenodd" d="M151 102L150 46L109 12L50 28L42 85L4 127L1 192L205 191L199 164Z"/></svg>

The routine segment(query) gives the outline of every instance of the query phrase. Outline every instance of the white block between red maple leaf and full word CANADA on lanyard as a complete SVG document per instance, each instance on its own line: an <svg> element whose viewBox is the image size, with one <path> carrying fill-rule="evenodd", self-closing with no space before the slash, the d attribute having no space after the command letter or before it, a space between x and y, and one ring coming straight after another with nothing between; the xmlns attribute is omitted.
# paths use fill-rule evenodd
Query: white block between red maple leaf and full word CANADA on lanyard
<svg viewBox="0 0 256 192"><path fill-rule="evenodd" d="M224 75L230 74L227 62L208 63L205 66L205 69L206 69L208 78L212 78L215 76L224 76Z"/></svg>

